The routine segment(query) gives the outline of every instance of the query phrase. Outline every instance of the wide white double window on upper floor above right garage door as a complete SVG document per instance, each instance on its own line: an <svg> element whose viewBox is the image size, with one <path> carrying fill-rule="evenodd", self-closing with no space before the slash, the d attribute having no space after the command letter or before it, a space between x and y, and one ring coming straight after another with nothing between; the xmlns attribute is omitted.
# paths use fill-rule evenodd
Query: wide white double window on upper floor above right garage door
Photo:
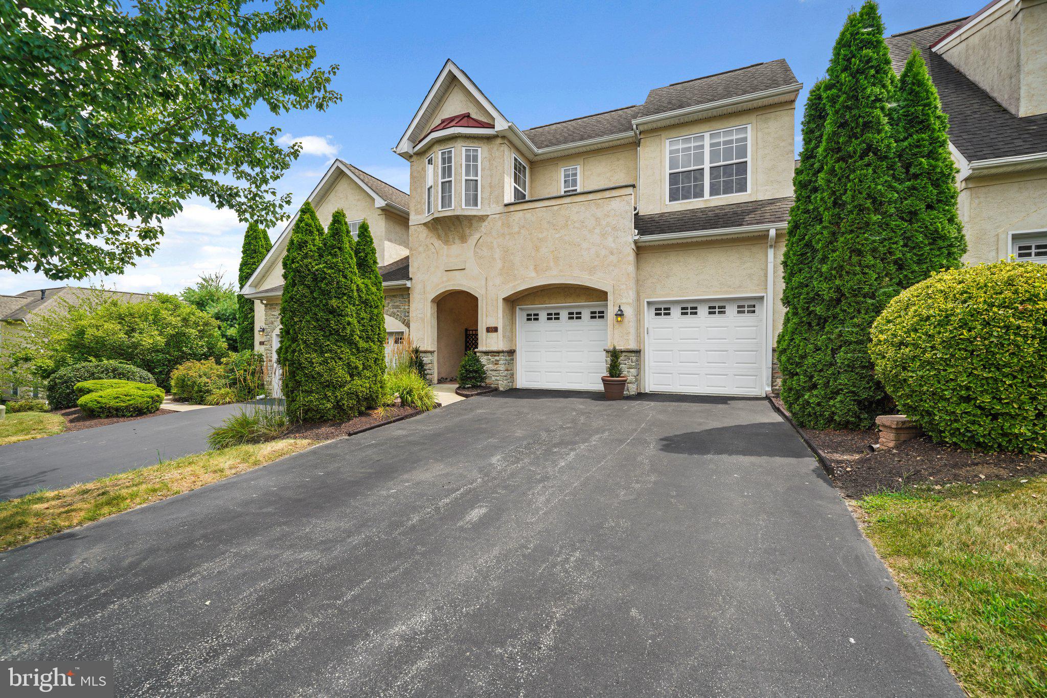
<svg viewBox="0 0 1047 698"><path fill-rule="evenodd" d="M748 126L671 138L667 145L669 203L749 192Z"/></svg>

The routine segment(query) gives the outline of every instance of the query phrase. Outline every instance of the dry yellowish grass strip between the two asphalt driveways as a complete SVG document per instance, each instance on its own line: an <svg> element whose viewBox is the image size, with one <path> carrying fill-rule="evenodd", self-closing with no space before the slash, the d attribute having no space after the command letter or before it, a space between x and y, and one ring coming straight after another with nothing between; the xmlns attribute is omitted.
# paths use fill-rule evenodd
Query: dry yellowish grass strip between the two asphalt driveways
<svg viewBox="0 0 1047 698"><path fill-rule="evenodd" d="M242 473L312 446L305 438L232 446L0 502L0 550L24 545Z"/></svg>

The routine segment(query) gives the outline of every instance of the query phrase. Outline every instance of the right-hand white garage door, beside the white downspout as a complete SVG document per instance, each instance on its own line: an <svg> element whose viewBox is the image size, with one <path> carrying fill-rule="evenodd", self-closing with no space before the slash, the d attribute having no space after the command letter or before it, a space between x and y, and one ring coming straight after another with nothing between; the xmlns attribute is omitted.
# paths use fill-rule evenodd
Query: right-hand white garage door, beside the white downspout
<svg viewBox="0 0 1047 698"><path fill-rule="evenodd" d="M763 395L761 298L647 303L647 389Z"/></svg>

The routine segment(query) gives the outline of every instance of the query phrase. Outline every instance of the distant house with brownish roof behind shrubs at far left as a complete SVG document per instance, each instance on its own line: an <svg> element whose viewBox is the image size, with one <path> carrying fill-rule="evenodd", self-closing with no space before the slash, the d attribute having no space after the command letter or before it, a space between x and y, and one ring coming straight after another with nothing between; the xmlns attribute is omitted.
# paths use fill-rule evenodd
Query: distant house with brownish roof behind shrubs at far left
<svg viewBox="0 0 1047 698"><path fill-rule="evenodd" d="M104 294L126 302L149 300L148 293L129 293L103 289L85 289L76 286L59 286L52 289L35 289L15 296L0 295L0 357L19 346L23 333L32 332L32 323L54 313L64 313L70 305L92 294ZM0 385L0 393L5 397L32 397L44 395L43 387L31 384L28 377L21 374L7 376Z"/></svg>

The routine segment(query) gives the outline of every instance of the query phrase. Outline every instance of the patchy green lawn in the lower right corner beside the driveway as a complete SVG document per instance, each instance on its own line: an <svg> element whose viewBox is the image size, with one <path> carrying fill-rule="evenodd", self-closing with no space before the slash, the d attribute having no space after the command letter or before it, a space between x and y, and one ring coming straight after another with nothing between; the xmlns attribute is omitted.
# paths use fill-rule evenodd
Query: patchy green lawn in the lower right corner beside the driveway
<svg viewBox="0 0 1047 698"><path fill-rule="evenodd" d="M1047 476L870 495L866 535L976 696L1047 696Z"/></svg>

